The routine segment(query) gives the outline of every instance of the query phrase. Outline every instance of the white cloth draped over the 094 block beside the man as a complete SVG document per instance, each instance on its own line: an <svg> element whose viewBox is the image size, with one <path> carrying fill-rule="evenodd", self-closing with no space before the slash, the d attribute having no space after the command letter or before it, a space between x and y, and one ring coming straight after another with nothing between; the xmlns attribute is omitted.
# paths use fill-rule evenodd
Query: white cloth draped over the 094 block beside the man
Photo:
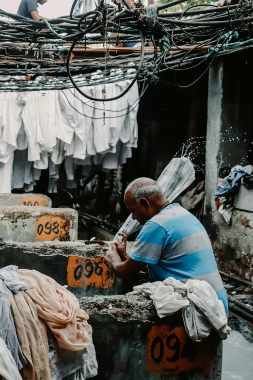
<svg viewBox="0 0 253 380"><path fill-rule="evenodd" d="M188 280L185 284L168 277L164 281L134 286L128 294L142 294L153 300L159 318L182 310L185 329L193 342L200 342L216 330L221 339L230 332L223 302L215 290L203 280Z"/></svg>

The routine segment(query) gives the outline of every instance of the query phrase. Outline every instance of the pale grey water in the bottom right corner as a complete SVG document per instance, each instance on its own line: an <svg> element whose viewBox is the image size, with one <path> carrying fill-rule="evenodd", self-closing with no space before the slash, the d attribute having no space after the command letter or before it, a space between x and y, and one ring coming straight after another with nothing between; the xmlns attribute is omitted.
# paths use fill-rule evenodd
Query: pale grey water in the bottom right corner
<svg viewBox="0 0 253 380"><path fill-rule="evenodd" d="M253 380L253 343L238 331L223 341L221 380Z"/></svg>

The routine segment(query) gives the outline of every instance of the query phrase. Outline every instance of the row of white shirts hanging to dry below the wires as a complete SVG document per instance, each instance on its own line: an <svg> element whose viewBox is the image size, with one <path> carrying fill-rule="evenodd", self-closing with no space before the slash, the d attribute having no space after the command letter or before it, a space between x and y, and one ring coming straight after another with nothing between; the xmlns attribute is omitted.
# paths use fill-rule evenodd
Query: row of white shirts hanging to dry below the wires
<svg viewBox="0 0 253 380"><path fill-rule="evenodd" d="M133 69L129 69L129 71ZM120 95L129 79L80 89L93 98ZM60 166L65 165L68 187L75 187L75 167L87 176L92 166L109 171L124 164L137 147L138 85L120 99L93 101L78 90L0 93L0 193L33 190L41 170L49 169L48 192L57 192Z"/></svg>

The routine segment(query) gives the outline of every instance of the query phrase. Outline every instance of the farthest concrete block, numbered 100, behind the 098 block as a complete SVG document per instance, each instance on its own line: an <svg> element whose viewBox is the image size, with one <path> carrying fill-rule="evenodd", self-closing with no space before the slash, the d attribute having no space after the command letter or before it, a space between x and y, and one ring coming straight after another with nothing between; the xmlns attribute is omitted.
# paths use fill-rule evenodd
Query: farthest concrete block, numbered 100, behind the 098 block
<svg viewBox="0 0 253 380"><path fill-rule="evenodd" d="M52 207L52 201L43 194L0 194L0 206Z"/></svg>

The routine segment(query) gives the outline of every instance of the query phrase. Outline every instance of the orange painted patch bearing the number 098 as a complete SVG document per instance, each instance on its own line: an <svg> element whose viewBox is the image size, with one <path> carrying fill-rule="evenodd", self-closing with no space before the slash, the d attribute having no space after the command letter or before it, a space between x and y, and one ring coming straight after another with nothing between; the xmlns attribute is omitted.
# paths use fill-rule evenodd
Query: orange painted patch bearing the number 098
<svg viewBox="0 0 253 380"><path fill-rule="evenodd" d="M35 236L40 241L51 241L57 237L66 240L67 232L66 220L60 216L45 215L37 219Z"/></svg>

